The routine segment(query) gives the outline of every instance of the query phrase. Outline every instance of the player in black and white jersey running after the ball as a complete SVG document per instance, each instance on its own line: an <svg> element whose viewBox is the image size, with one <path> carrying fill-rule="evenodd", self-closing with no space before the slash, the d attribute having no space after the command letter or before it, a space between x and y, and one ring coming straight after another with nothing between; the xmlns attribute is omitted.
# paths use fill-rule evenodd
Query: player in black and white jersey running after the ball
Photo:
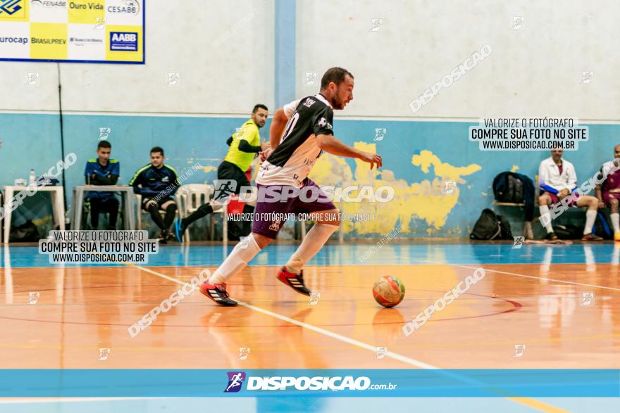
<svg viewBox="0 0 620 413"><path fill-rule="evenodd" d="M342 68L330 68L321 79L319 94L293 101L276 111L271 123L271 148L261 157L266 160L256 178L259 196L252 234L238 243L209 280L202 284L200 291L205 296L219 305L237 305L228 296L226 281L239 274L262 248L278 236L282 222L268 218L285 213L318 215L317 223L276 274L279 281L297 293L310 295L304 285L304 264L318 253L340 225L338 210L318 185L308 179L312 165L322 151L357 158L370 163L371 169L374 165L382 165L381 157L376 153L347 146L333 134L333 110L342 110L352 101L353 86L353 75L350 72ZM302 187L314 190L321 196L316 201L304 202L299 197L299 189ZM290 193L292 195L287 195ZM279 202L269 202L274 198Z"/></svg>

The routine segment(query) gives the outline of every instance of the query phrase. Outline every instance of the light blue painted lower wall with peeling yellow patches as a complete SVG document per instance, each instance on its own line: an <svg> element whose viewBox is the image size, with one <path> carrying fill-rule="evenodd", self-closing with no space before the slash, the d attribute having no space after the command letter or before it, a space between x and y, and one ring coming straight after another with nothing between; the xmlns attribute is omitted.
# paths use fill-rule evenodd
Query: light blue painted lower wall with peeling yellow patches
<svg viewBox="0 0 620 413"><path fill-rule="evenodd" d="M145 117L66 115L65 152L75 152L77 164L66 172L67 188L82 184L84 165L94 157L99 140L99 127L110 127L109 141L113 158L120 160L121 179L126 184L132 174L149 162L149 149L162 146L168 163L181 174L195 162L217 167L228 146L225 140L246 120L244 117ZM18 177L27 178L31 167L43 173L61 159L60 132L57 115L0 114L0 184L13 184ZM452 210L444 227L427 234L428 225L418 217L411 217L411 231L407 237L467 236L469 228L483 208L492 203L490 187L496 174L519 166L519 172L530 177L538 171L545 152L483 152L478 144L467 139L467 122L397 122L383 120L336 120L336 135L347 144L354 141L375 143L383 156L384 169L391 170L396 179L409 184L435 178L433 168L425 174L411 164L412 155L428 150L443 163L452 166L481 165L482 170L464 177L466 184L459 186L459 204ZM270 123L261 129L268 138ZM566 151L564 157L574 163L579 182L591 177L606 160L612 158L613 146L620 142L620 125L588 125L590 141L582 142L578 151ZM375 128L386 128L383 141L373 142ZM352 160L347 161L354 168ZM211 182L216 172L195 173L187 183ZM482 193L486 193L483 196ZM68 203L71 203L68 191ZM459 229L455 233L455 229Z"/></svg>

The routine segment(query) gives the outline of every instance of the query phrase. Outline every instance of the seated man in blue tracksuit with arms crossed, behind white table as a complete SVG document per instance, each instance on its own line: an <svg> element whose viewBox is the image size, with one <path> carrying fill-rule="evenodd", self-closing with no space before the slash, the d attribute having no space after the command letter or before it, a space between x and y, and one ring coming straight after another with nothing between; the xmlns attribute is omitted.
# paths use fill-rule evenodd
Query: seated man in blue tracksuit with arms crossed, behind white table
<svg viewBox="0 0 620 413"><path fill-rule="evenodd" d="M87 185L116 185L120 175L120 163L110 159L112 145L109 141L100 141L97 145L97 158L89 159L84 170ZM90 203L90 224L92 229L99 227L99 214L110 214L107 229L116 229L118 217L118 199L113 192L89 191L85 201Z"/></svg>

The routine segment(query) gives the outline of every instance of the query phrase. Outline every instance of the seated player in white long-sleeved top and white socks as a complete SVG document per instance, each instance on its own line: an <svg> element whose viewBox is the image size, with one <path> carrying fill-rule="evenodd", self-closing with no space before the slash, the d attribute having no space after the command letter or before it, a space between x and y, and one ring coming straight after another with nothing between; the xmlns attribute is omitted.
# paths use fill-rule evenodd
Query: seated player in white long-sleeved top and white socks
<svg viewBox="0 0 620 413"><path fill-rule="evenodd" d="M559 203L577 189L575 167L568 160L562 159L563 153L562 150L551 151L551 156L543 160L538 167L538 186L542 191L538 197L538 209L541 216L549 213L549 205ZM568 205L588 207L585 212L585 227L581 241L602 241L600 236L592 233L597 215L598 199L590 195L581 195L576 201L571 200ZM545 224L545 229L547 230L546 239L557 240L551 226L551 220Z"/></svg>

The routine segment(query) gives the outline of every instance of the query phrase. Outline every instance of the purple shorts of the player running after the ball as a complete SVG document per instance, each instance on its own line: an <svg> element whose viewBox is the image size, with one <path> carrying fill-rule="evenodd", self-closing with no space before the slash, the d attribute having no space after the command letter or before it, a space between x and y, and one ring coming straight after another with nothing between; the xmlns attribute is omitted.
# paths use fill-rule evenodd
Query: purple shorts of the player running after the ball
<svg viewBox="0 0 620 413"><path fill-rule="evenodd" d="M281 194L291 193L295 189L294 186L256 184L256 187L259 190L259 201L256 202L254 210L252 232L267 238L275 239L278 236L285 222L279 220L278 217L336 209L321 188L308 178L304 179L304 186L299 189L303 190L303 193L297 196L286 196L284 200L280 200ZM266 194L266 200L261 201L261 196L264 196L262 194ZM278 201L273 202L274 198Z"/></svg>

